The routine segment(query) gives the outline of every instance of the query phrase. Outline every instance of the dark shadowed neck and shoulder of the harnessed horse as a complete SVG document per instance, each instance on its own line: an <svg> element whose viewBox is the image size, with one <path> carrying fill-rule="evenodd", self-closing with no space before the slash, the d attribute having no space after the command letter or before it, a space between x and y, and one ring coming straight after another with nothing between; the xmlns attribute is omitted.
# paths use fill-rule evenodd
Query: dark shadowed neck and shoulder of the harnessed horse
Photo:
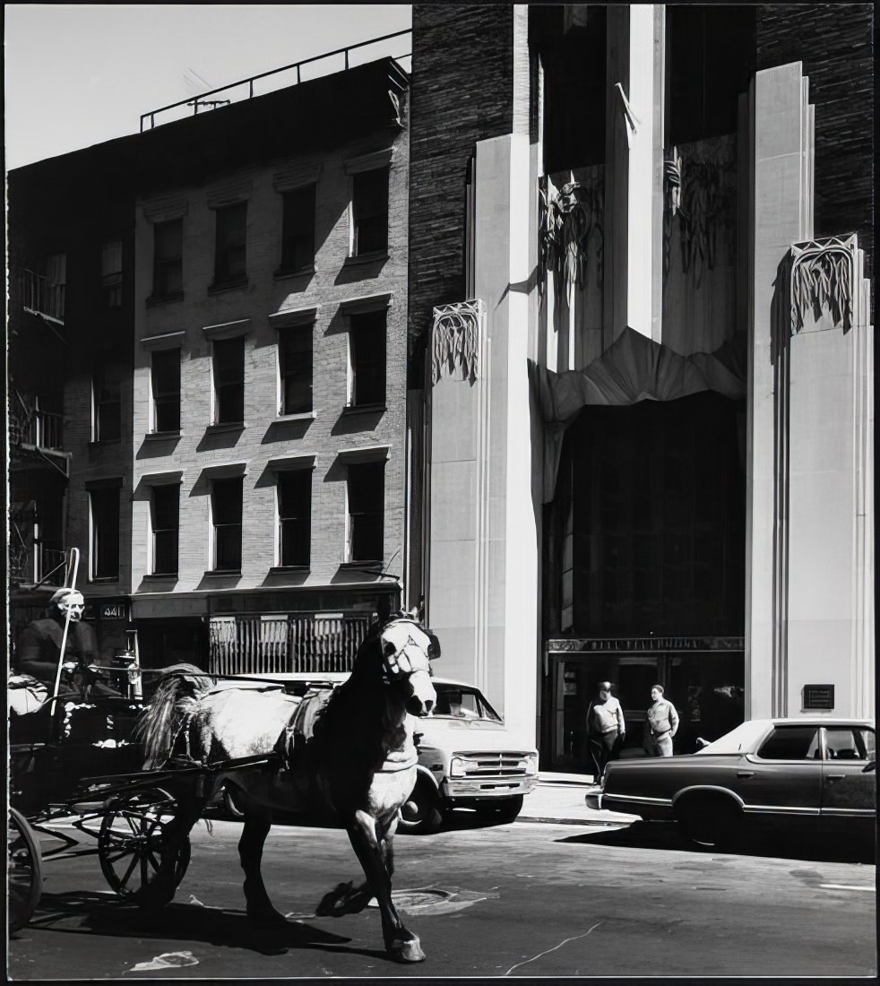
<svg viewBox="0 0 880 986"><path fill-rule="evenodd" d="M372 774L406 738L403 726L388 719L388 685L382 677L379 638L390 619L401 615L372 624L348 679L334 689L318 713L309 743L311 755L331 767L342 781L340 790L350 792L358 804L363 804Z"/></svg>

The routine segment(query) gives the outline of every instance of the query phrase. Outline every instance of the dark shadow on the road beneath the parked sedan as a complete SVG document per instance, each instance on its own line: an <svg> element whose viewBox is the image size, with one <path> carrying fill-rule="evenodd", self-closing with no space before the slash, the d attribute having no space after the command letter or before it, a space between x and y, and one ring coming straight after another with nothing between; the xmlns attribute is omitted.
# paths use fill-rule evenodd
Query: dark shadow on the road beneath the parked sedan
<svg viewBox="0 0 880 986"><path fill-rule="evenodd" d="M875 849L858 842L821 842L818 839L796 838L788 833L741 836L730 849L708 849L691 842L672 821L634 821L626 828L593 829L569 835L557 842L596 843L633 849L663 849L691 852L697 855L733 855L777 857L808 860L817 863L874 863Z"/></svg>

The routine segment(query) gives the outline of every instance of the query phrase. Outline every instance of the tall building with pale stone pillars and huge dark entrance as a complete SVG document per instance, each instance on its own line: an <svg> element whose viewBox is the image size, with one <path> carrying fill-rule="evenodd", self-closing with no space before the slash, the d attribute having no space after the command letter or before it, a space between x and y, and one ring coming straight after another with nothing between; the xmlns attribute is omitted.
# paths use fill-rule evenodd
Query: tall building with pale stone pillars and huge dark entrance
<svg viewBox="0 0 880 986"><path fill-rule="evenodd" d="M873 714L872 27L414 7L426 608L546 767L605 678L634 746Z"/></svg>

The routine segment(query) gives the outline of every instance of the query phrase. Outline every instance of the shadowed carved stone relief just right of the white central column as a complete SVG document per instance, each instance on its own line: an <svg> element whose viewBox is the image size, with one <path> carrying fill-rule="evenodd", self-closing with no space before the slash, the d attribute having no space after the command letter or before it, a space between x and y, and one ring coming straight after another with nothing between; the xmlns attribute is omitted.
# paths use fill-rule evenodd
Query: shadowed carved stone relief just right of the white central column
<svg viewBox="0 0 880 986"><path fill-rule="evenodd" d="M682 269L700 287L713 270L718 250L732 255L736 230L736 137L728 134L673 147L663 167L666 214L663 273L668 274L673 241Z"/></svg>

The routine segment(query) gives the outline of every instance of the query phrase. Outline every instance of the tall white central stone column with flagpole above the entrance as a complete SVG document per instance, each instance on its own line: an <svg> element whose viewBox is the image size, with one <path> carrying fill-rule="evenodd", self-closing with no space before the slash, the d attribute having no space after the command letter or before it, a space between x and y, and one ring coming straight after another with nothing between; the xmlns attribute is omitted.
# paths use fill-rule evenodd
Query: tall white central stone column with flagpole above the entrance
<svg viewBox="0 0 880 986"><path fill-rule="evenodd" d="M664 26L661 4L608 8L606 349L628 325L661 341Z"/></svg>

